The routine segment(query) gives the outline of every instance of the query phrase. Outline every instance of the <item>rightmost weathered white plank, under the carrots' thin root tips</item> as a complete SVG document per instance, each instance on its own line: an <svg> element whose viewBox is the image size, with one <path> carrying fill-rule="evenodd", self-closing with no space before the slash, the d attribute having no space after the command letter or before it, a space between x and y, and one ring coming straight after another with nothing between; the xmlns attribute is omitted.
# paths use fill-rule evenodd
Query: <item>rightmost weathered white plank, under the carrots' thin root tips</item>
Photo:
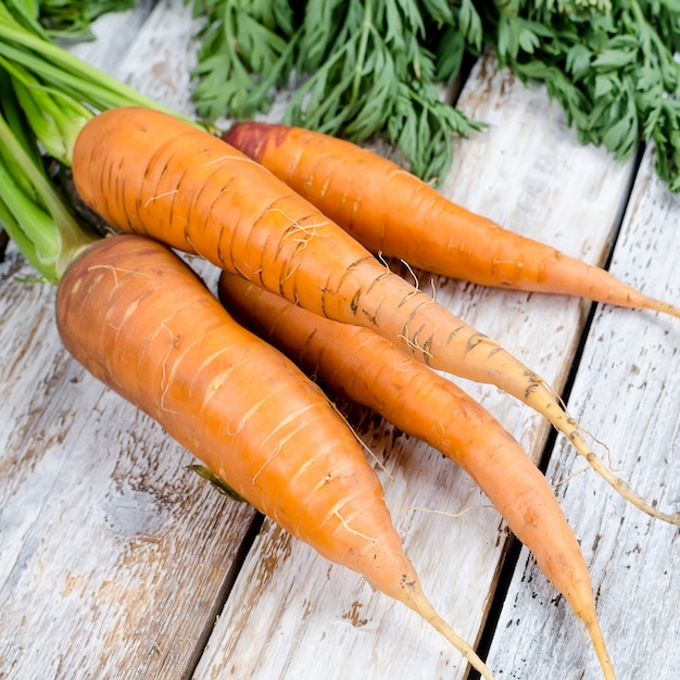
<svg viewBox="0 0 680 680"><path fill-rule="evenodd" d="M669 301L680 300L680 198L654 177L646 152L612 270ZM610 451L617 474L667 512L680 511L680 320L600 307L570 408ZM569 479L558 496L591 564L597 607L619 678L680 676L680 536L627 505L559 445L547 470ZM491 648L501 678L584 677L574 625L522 555ZM581 648L588 672L597 668Z"/></svg>

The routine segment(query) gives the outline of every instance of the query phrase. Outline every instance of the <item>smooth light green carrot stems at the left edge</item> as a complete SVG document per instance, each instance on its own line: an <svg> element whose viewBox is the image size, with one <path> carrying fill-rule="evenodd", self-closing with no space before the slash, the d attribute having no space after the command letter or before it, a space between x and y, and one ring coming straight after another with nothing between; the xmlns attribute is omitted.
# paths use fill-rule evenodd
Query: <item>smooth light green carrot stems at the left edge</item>
<svg viewBox="0 0 680 680"><path fill-rule="evenodd" d="M143 106L182 116L77 59L28 18L0 3L0 221L40 276L58 282L99 237L73 214L37 142L71 165L77 136L100 111Z"/></svg>

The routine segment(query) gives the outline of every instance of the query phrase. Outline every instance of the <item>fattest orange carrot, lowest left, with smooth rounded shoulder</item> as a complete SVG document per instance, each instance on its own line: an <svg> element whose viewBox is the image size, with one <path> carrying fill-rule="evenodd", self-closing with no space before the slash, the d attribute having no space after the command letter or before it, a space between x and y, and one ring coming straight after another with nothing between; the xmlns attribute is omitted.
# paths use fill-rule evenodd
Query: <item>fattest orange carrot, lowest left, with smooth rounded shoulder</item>
<svg viewBox="0 0 680 680"><path fill-rule="evenodd" d="M166 247L103 239L66 270L58 327L97 378L155 418L239 495L362 574L489 669L435 612L382 488L323 392L239 326Z"/></svg>

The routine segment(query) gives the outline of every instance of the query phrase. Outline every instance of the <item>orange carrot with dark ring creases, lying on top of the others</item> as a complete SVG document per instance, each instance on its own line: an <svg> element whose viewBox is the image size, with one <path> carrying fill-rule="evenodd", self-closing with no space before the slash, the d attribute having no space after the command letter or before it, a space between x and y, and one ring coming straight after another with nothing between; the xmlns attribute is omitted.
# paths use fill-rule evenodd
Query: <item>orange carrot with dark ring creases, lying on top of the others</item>
<svg viewBox="0 0 680 680"><path fill-rule="evenodd" d="M590 465L650 515L612 474L534 372L382 266L281 180L217 137L137 106L85 124L73 151L81 199L114 228L196 253L290 302L370 328L419 361L495 385L544 415Z"/></svg>

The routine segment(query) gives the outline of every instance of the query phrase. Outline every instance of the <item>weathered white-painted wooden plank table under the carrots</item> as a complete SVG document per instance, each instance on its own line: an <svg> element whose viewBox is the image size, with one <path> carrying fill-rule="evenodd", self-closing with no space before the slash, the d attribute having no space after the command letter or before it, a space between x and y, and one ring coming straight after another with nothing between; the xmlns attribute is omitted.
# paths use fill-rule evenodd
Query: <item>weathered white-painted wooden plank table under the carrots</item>
<svg viewBox="0 0 680 680"><path fill-rule="evenodd" d="M99 40L76 51L190 114L197 25L181 0L152 5L106 17ZM619 277L680 301L680 200L655 178L652 150L618 163L579 146L544 89L490 55L459 106L489 128L456 144L446 196L590 263L610 256ZM0 265L0 678L465 677L411 612L187 470L187 452L68 357L54 290L18 280L32 274L10 247ZM637 491L680 507L678 319L432 285L563 391ZM527 407L463 386L546 466L590 565L618 677L680 677L678 530L622 501ZM575 616L476 486L373 414L353 408L351 421L385 468L427 592L481 642L496 678L601 677Z"/></svg>

